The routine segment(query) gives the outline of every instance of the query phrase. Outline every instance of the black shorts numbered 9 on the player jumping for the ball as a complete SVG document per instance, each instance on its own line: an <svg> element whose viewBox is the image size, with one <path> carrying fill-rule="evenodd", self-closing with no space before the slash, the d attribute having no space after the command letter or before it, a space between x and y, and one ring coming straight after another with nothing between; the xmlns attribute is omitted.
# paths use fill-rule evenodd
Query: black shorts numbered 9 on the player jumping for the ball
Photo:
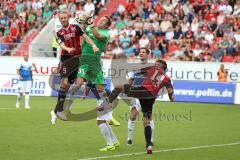
<svg viewBox="0 0 240 160"><path fill-rule="evenodd" d="M68 82L73 84L77 77L79 64L78 56L61 56L61 79L68 78Z"/></svg>

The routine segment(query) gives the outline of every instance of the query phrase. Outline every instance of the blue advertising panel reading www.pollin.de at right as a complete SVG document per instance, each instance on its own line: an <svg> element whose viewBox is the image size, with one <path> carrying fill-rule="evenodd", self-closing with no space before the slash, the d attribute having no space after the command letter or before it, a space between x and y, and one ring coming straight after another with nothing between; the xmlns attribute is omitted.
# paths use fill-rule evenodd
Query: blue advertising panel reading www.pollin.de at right
<svg viewBox="0 0 240 160"><path fill-rule="evenodd" d="M175 101L234 103L235 85L221 82L173 81Z"/></svg>

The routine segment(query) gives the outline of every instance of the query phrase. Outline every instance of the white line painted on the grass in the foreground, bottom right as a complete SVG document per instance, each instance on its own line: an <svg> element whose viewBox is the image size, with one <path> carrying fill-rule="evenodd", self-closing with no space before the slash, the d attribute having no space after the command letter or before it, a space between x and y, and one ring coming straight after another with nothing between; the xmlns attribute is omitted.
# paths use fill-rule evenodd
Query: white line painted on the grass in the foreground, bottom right
<svg viewBox="0 0 240 160"><path fill-rule="evenodd" d="M180 148L170 148L170 149L162 149L153 151L153 153L160 153L160 152L172 152L172 151L184 151L184 150L193 150L193 149L202 149L202 148L214 148L214 147L224 147L224 146L233 146L233 145L240 145L240 142L235 143L226 143L226 144L213 144L213 145L203 145L203 146L195 146L195 147L180 147ZM93 157L93 158L81 158L78 160L98 160L98 159L108 159L108 158L117 158L117 157L126 157L126 156L133 156L133 155L141 155L146 154L146 152L136 152L136 153L128 153L128 154L117 154L117 155L110 155L110 156L102 156L102 157Z"/></svg>

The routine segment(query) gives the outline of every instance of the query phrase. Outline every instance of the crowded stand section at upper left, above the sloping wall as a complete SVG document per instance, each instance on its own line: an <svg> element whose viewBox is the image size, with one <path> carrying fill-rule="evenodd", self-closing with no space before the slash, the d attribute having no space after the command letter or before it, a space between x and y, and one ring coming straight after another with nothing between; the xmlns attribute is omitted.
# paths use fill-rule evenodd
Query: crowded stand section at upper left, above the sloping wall
<svg viewBox="0 0 240 160"><path fill-rule="evenodd" d="M3 0L0 6L0 54L22 55L57 10L68 9L73 17L76 10L90 8L97 15L104 5L105 0L94 3L91 0Z"/></svg>

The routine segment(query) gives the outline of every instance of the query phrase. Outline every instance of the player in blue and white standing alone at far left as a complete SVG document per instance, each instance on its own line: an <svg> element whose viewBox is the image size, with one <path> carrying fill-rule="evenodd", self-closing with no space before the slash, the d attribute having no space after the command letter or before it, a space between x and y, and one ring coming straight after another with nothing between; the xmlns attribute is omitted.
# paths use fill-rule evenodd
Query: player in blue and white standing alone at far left
<svg viewBox="0 0 240 160"><path fill-rule="evenodd" d="M17 68L19 78L18 95L16 108L20 108L21 97L25 93L25 109L30 109L29 99L32 86L32 63L28 61L29 55L27 52L23 54L23 61Z"/></svg>

